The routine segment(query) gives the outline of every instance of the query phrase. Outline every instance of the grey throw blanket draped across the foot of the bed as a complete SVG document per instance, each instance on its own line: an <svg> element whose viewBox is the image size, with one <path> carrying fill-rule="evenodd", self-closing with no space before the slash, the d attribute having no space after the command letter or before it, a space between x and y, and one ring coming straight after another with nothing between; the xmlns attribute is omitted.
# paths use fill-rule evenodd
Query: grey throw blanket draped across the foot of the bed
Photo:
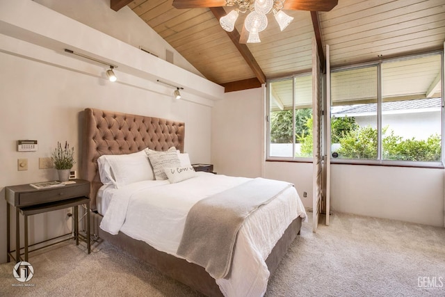
<svg viewBox="0 0 445 297"><path fill-rule="evenodd" d="M177 254L206 268L213 278L227 278L245 218L289 186L257 177L196 202L188 211Z"/></svg>

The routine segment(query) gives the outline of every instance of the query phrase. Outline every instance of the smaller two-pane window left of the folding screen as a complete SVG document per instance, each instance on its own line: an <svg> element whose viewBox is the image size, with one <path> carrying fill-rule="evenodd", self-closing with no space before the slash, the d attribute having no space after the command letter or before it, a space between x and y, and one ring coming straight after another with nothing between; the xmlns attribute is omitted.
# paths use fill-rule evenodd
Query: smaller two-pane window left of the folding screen
<svg viewBox="0 0 445 297"><path fill-rule="evenodd" d="M312 74L268 81L268 157L312 157Z"/></svg>

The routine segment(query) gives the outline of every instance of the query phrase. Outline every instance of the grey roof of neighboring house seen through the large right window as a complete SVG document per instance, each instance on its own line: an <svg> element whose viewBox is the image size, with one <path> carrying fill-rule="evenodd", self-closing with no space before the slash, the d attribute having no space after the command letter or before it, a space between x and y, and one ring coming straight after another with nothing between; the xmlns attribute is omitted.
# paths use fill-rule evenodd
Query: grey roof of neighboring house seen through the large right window
<svg viewBox="0 0 445 297"><path fill-rule="evenodd" d="M413 99L403 101L391 101L382 103L382 111L385 113L391 111L407 111L421 112L421 111L437 111L442 106L441 98L426 98L426 99ZM375 114L377 112L377 104L355 104L355 105L343 105L332 106L331 115L368 115Z"/></svg>

